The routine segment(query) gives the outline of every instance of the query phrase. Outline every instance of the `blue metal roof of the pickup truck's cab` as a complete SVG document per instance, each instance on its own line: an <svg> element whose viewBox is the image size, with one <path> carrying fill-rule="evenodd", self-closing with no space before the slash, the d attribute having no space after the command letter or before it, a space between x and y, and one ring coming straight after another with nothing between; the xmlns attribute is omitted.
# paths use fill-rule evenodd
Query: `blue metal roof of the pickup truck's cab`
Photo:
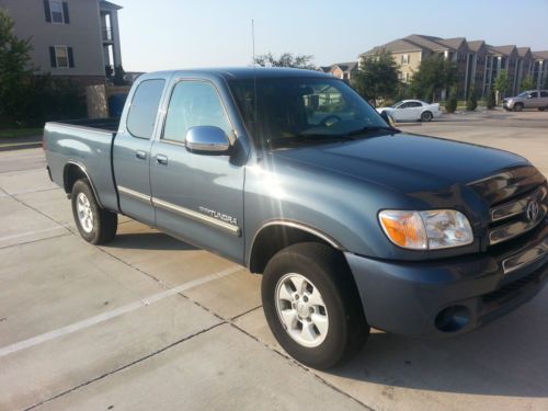
<svg viewBox="0 0 548 411"><path fill-rule="evenodd" d="M225 80L236 79L265 79L265 78L281 78L281 77L319 77L332 79L332 76L326 75L321 71L304 70L296 68L285 67L230 67L230 68L196 68L196 69L182 69L182 70L164 70L156 71L156 73L178 73L204 77L218 77ZM155 72L145 75L146 77L153 77Z"/></svg>

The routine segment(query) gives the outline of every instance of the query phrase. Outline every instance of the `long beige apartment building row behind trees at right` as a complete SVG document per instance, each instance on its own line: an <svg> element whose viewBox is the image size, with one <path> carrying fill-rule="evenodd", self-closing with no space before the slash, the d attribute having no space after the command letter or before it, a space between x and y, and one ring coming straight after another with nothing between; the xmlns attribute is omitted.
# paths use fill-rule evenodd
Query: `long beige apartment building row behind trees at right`
<svg viewBox="0 0 548 411"><path fill-rule="evenodd" d="M439 54L455 61L457 84L461 98L467 98L471 85L484 96L501 70L506 70L509 94L520 92L524 77L532 76L537 88L548 78L548 52L532 52L514 45L491 46L484 41L468 42L465 37L441 38L411 34L362 54L361 59L381 50L389 52L399 65L400 81L409 83L421 60ZM442 95L443 98L443 95Z"/></svg>

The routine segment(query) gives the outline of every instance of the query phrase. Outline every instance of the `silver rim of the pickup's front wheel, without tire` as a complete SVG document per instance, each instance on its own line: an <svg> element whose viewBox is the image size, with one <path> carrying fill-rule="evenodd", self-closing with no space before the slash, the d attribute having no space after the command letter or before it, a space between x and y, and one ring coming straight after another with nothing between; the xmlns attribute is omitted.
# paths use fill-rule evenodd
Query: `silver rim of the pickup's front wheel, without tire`
<svg viewBox="0 0 548 411"><path fill-rule="evenodd" d="M320 345L328 334L329 318L318 288L300 274L285 274L276 285L276 311L292 339L300 345Z"/></svg>

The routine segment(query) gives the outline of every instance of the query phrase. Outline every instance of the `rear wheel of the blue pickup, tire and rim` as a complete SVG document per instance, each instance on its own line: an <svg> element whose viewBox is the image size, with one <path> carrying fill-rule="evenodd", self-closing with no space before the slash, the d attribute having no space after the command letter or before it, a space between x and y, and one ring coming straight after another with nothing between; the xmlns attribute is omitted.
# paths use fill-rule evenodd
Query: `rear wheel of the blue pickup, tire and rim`
<svg viewBox="0 0 548 411"><path fill-rule="evenodd" d="M88 179L75 183L70 198L76 226L85 241L104 244L116 236L118 215L99 206Z"/></svg>

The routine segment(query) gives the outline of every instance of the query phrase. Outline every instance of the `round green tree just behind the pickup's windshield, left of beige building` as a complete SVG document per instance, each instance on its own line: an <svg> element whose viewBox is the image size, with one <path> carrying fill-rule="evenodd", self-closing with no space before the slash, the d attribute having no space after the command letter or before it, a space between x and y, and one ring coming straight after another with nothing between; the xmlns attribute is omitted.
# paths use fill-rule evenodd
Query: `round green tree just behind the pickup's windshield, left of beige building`
<svg viewBox="0 0 548 411"><path fill-rule="evenodd" d="M352 85L367 100L390 99L398 93L398 65L388 52L364 56Z"/></svg>

